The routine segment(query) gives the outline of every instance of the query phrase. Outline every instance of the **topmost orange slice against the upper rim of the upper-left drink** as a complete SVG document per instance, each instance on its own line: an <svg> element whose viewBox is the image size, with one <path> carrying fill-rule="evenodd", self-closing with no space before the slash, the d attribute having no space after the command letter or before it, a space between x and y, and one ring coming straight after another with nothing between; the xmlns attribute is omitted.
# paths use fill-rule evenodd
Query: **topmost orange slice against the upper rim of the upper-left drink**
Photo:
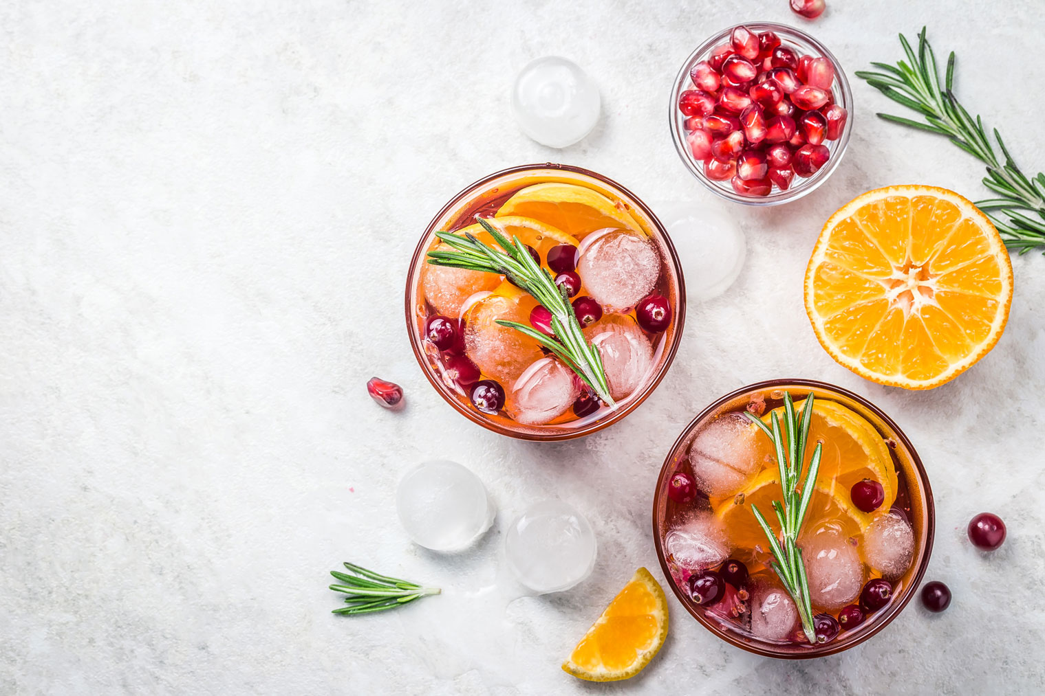
<svg viewBox="0 0 1045 696"><path fill-rule="evenodd" d="M522 216L540 220L581 239L603 227L621 227L644 235L622 202L613 202L576 184L548 182L528 186L505 201L495 217Z"/></svg>

